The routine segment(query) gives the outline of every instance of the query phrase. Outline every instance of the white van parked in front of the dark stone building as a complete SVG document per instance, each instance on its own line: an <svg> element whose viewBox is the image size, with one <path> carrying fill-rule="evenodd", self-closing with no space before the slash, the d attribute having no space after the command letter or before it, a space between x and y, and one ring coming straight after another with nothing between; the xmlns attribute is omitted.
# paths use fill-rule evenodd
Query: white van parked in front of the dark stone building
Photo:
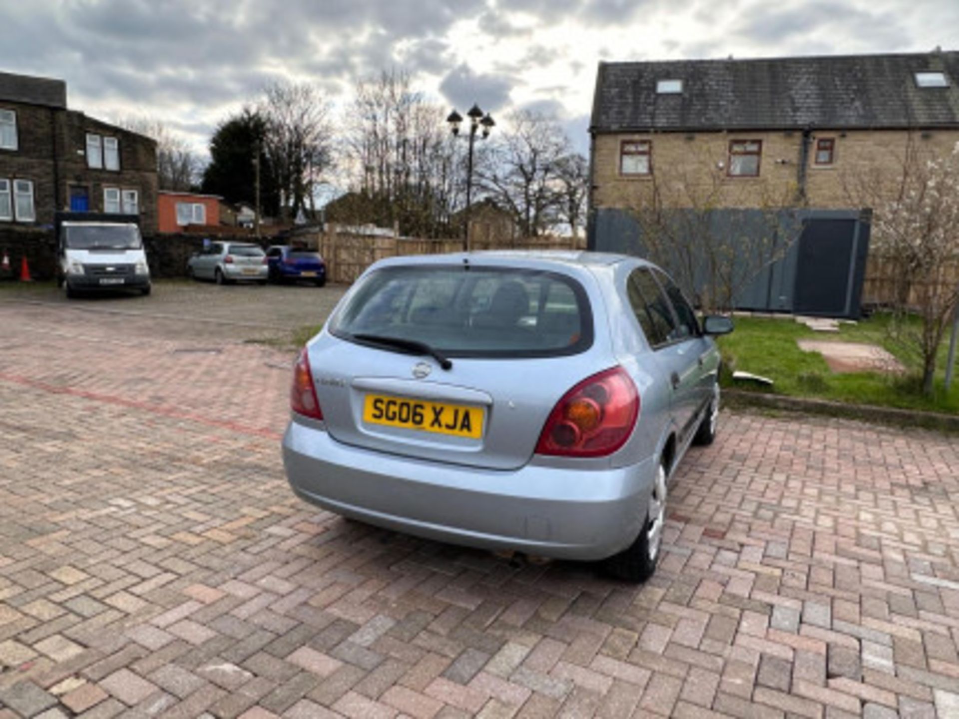
<svg viewBox="0 0 959 719"><path fill-rule="evenodd" d="M58 284L67 297L84 290L138 290L152 285L143 237L135 222L58 222Z"/></svg>

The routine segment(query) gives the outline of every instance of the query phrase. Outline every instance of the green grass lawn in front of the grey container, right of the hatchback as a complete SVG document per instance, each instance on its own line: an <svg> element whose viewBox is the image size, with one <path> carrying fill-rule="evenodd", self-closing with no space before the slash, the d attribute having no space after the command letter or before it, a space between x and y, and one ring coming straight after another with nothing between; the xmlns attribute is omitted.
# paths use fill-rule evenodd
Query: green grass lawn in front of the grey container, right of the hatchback
<svg viewBox="0 0 959 719"><path fill-rule="evenodd" d="M838 333L813 332L791 318L761 319L737 317L736 331L719 338L725 370L724 387L815 397L855 404L872 404L902 409L927 410L959 414L959 377L946 395L946 355L948 338L940 348L936 395L925 397L919 389L919 357L889 338L889 317L876 315L857 325L840 325ZM796 340L836 340L861 342L888 349L899 358L910 376L893 376L880 372L834 374L818 352L804 352ZM734 370L753 372L769 377L772 388L756 388L733 382Z"/></svg>

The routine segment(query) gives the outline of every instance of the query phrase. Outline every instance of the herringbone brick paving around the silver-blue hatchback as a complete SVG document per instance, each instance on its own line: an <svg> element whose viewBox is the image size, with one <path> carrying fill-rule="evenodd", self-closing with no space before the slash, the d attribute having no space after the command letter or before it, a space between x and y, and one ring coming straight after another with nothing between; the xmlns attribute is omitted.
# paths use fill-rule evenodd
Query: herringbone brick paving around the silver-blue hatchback
<svg viewBox="0 0 959 719"><path fill-rule="evenodd" d="M645 586L512 566L293 499L289 354L165 309L336 290L222 289L0 295L2 719L959 716L955 438L727 413Z"/></svg>

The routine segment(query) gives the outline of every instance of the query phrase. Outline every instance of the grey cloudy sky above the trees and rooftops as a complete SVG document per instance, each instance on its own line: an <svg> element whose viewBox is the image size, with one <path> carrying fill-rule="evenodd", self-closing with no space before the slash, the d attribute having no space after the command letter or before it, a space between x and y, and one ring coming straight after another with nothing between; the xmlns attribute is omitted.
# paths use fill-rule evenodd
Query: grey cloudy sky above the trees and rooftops
<svg viewBox="0 0 959 719"><path fill-rule="evenodd" d="M148 115L205 146L271 79L341 110L409 70L435 101L555 111L587 146L596 63L959 49L956 0L0 0L0 70L65 79L105 120Z"/></svg>

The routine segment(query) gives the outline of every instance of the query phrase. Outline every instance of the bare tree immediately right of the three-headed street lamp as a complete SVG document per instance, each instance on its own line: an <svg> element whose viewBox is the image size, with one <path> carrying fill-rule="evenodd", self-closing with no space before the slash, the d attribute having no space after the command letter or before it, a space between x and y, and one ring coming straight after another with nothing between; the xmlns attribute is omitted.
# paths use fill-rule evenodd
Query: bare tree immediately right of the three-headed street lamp
<svg viewBox="0 0 959 719"><path fill-rule="evenodd" d="M555 119L513 112L497 140L479 152L480 191L513 215L522 236L544 235L562 223L560 169L569 155L569 139Z"/></svg>

